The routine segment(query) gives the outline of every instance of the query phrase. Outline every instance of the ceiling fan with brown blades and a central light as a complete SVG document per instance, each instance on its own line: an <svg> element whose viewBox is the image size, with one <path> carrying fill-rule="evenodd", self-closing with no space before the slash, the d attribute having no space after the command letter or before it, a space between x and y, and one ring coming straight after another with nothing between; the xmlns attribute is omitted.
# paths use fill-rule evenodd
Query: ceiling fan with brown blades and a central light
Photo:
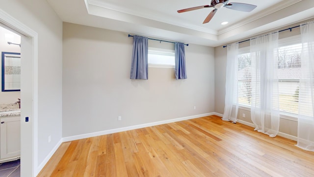
<svg viewBox="0 0 314 177"><path fill-rule="evenodd" d="M203 24L205 24L205 23L209 23L209 21L215 15L217 10L220 9L221 7L227 7L229 9L243 11L243 12L251 12L253 9L257 7L256 5L247 4L247 3L238 3L238 2L228 3L228 2L229 0L211 0L210 5L202 5L202 6L197 6L197 7L186 8L186 9L178 10L178 13L213 7L214 9L209 13L209 15L206 17L206 19L203 22Z"/></svg>

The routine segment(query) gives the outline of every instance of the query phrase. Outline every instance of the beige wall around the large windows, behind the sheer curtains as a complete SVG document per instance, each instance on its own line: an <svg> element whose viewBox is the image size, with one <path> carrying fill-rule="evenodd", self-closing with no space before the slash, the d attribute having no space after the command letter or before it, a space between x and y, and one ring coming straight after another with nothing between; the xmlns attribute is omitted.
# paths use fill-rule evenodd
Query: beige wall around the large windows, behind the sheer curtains
<svg viewBox="0 0 314 177"><path fill-rule="evenodd" d="M282 30L282 29L287 29L290 27L295 27L295 26L300 25L301 23L304 23L304 22L295 23L295 24L292 24L292 25L289 25L280 29L276 29L276 30ZM280 32L279 38L282 39L282 38L299 35L299 34L300 34L300 28L295 28L295 29L292 29L291 32L289 30ZM243 40L246 40L246 39L243 39ZM239 39L238 41L242 41L242 40ZM239 45L239 48L246 47L249 45L250 45L250 42L244 42ZM227 60L227 48L223 48L222 46L215 47L215 112L219 114L224 113L224 107L225 107L226 60ZM245 118L242 117L242 114L245 114ZM244 122L252 123L249 108L239 109L237 118L239 120L243 120ZM297 136L296 119L281 116L279 131L284 134L291 135L291 136Z"/></svg>

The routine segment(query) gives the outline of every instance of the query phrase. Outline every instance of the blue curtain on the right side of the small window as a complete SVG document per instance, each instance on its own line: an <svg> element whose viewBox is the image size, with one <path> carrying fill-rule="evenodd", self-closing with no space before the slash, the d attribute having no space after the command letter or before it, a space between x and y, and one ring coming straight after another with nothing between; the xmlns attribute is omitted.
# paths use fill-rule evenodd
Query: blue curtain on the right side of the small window
<svg viewBox="0 0 314 177"><path fill-rule="evenodd" d="M185 50L183 43L175 42L175 59L176 79L186 79Z"/></svg>

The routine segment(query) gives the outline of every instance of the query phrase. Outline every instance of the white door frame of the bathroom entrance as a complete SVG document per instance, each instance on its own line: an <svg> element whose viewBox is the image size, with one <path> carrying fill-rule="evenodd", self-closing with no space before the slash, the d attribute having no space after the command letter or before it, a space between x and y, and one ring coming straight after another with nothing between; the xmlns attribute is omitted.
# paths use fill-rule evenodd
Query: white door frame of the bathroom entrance
<svg viewBox="0 0 314 177"><path fill-rule="evenodd" d="M21 174L35 177L38 174L38 34L2 9L0 23L22 34Z"/></svg>

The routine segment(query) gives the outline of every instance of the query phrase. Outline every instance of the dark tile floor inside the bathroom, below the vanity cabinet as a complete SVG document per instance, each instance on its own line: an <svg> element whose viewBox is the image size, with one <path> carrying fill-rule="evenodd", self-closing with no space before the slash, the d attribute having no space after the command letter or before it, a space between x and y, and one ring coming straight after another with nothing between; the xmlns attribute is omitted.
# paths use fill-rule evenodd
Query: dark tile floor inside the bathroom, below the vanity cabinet
<svg viewBox="0 0 314 177"><path fill-rule="evenodd" d="M0 177L20 177L20 159L0 163Z"/></svg>

